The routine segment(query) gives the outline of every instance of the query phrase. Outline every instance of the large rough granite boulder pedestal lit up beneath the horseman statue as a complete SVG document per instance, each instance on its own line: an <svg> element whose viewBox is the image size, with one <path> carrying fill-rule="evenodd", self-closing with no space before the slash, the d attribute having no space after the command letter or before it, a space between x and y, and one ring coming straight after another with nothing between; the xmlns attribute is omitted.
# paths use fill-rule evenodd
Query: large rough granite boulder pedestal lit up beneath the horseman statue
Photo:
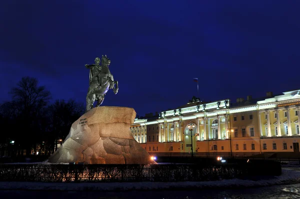
<svg viewBox="0 0 300 199"><path fill-rule="evenodd" d="M96 107L76 120L50 163L156 164L134 140L130 124L135 111L126 107Z"/></svg>

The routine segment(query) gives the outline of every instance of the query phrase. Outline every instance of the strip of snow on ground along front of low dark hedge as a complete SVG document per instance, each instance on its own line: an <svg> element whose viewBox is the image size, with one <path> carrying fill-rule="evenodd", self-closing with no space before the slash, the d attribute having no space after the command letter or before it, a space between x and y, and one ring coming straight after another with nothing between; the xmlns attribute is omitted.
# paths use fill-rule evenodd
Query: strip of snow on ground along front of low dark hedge
<svg viewBox="0 0 300 199"><path fill-rule="evenodd" d="M282 169L282 175L268 180L221 180L209 182L137 182L137 183L37 183L0 182L0 190L47 191L129 191L129 190L199 190L281 185L300 181L300 171Z"/></svg>

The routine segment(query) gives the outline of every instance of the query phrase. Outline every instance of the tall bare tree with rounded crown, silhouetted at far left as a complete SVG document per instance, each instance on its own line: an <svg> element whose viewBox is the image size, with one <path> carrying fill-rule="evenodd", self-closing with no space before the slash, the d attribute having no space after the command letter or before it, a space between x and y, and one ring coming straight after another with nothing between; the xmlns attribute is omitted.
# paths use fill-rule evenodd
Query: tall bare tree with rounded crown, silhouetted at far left
<svg viewBox="0 0 300 199"><path fill-rule="evenodd" d="M41 118L44 108L50 99L50 92L44 86L38 86L38 80L32 77L22 77L10 91L12 94L12 112L15 113L14 128L16 144L26 149L26 155L41 136Z"/></svg>

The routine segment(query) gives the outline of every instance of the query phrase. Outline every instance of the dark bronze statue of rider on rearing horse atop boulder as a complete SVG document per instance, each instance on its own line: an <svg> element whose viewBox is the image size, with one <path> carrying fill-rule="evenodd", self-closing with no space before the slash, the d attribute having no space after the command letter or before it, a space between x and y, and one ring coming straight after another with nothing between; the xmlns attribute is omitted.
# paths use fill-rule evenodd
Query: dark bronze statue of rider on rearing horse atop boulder
<svg viewBox="0 0 300 199"><path fill-rule="evenodd" d="M118 92L118 83L113 80L108 68L110 60L106 55L102 55L101 65L99 63L100 59L96 57L94 64L85 64L85 67L89 68L89 87L86 95L85 112L93 108L95 100L97 100L96 107L100 106L109 89L113 89L114 94Z"/></svg>

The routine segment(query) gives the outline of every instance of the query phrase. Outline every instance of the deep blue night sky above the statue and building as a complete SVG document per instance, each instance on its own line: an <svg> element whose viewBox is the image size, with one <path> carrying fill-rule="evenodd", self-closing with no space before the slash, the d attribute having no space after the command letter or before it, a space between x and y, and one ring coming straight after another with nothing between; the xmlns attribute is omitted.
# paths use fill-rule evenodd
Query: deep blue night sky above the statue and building
<svg viewBox="0 0 300 199"><path fill-rule="evenodd" d="M88 69L106 54L119 93L102 105L138 115L298 89L299 0L2 0L0 102L22 76L53 99L85 103Z"/></svg>

